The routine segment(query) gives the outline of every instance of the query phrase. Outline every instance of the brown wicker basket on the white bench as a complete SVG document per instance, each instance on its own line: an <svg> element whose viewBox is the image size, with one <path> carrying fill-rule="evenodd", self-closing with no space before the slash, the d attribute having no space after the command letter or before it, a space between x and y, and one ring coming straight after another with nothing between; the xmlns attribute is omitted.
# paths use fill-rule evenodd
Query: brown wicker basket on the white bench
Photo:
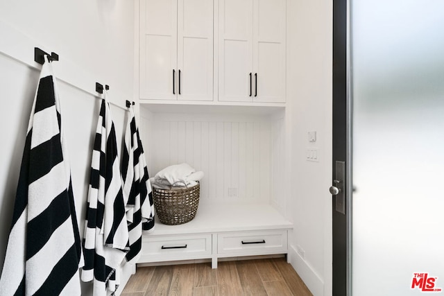
<svg viewBox="0 0 444 296"><path fill-rule="evenodd" d="M193 220L199 204L200 185L178 189L160 189L153 184L153 200L157 218L167 225Z"/></svg>

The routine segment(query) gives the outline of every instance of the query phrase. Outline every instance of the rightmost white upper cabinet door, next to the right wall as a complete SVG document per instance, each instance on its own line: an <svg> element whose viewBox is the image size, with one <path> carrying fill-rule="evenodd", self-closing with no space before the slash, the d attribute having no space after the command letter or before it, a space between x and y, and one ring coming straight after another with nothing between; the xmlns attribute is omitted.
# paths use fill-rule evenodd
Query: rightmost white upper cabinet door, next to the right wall
<svg viewBox="0 0 444 296"><path fill-rule="evenodd" d="M284 103L286 0L255 0L253 9L253 101Z"/></svg>

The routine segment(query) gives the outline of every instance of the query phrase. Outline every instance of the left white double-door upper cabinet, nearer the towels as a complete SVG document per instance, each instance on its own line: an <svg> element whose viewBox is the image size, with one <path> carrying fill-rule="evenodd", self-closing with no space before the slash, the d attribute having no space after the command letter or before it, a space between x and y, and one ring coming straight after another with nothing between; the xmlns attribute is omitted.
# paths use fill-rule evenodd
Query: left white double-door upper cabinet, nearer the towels
<svg viewBox="0 0 444 296"><path fill-rule="evenodd" d="M142 99L213 100L213 1L141 0Z"/></svg>

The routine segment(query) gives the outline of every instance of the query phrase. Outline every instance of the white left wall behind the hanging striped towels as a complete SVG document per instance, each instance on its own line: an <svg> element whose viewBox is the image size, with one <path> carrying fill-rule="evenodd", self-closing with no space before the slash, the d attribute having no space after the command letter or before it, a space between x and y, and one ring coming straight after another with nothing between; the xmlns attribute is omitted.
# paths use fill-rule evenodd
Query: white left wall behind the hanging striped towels
<svg viewBox="0 0 444 296"><path fill-rule="evenodd" d="M54 62L62 121L71 161L80 234L83 235L92 141L99 112L95 82L110 85L110 101L133 99L134 3L128 0L0 2L0 268L24 139L40 65L34 46L60 55ZM118 137L126 111L111 105ZM83 285L88 295L89 285Z"/></svg>

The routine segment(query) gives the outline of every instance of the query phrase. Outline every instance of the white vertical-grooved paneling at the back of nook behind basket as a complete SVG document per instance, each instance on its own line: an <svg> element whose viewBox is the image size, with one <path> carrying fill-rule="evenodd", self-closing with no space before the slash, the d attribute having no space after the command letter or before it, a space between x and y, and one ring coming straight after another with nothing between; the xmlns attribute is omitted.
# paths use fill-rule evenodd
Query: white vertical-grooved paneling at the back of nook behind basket
<svg viewBox="0 0 444 296"><path fill-rule="evenodd" d="M203 171L201 202L265 202L282 177L282 119L241 114L167 114L141 109L150 175L187 162ZM273 150L273 153L272 153ZM279 194L279 188L277 193ZM273 190L274 191L274 190Z"/></svg>

